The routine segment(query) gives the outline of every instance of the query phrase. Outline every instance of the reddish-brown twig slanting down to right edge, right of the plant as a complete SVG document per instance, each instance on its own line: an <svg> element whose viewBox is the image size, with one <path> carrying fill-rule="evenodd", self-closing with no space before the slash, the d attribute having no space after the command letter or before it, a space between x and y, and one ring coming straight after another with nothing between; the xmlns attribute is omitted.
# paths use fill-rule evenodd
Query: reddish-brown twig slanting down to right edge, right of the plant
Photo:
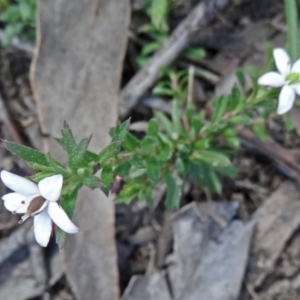
<svg viewBox="0 0 300 300"><path fill-rule="evenodd" d="M281 172L300 183L300 164L290 151L282 148L272 140L262 142L247 129L240 133L240 139L244 146L251 149L255 148L276 161Z"/></svg>

